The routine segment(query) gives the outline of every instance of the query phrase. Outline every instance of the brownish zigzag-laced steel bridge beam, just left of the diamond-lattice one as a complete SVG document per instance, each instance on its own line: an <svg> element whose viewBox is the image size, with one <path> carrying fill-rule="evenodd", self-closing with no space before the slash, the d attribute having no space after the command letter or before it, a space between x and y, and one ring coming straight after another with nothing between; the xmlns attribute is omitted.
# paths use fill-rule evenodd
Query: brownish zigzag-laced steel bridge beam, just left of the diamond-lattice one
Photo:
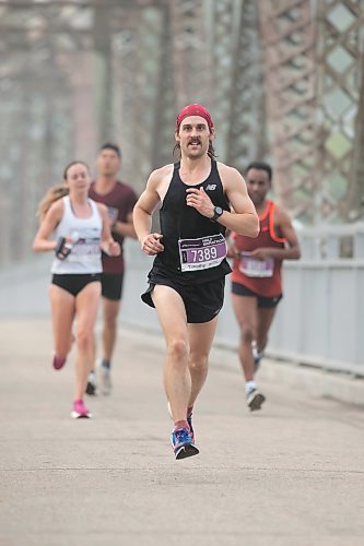
<svg viewBox="0 0 364 546"><path fill-rule="evenodd" d="M315 34L310 0L259 2L270 155L278 200L315 217Z"/></svg>

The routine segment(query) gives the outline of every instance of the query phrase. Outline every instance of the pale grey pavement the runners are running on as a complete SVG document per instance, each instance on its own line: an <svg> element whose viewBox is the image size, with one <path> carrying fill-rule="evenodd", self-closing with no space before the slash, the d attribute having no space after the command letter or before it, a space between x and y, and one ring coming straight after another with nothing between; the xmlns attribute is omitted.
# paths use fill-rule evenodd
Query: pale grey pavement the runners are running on
<svg viewBox="0 0 364 546"><path fill-rule="evenodd" d="M71 419L73 357L48 319L0 321L1 546L364 544L363 407L269 379L250 413L236 354L212 354L200 454L175 461L163 340L122 330L110 396Z"/></svg>

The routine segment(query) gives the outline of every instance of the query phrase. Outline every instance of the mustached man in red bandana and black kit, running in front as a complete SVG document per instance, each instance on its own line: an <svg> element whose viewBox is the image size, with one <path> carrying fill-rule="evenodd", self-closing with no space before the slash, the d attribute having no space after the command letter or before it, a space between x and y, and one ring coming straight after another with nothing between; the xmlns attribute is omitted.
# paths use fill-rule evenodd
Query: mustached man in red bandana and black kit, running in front
<svg viewBox="0 0 364 546"><path fill-rule="evenodd" d="M231 272L225 228L248 237L259 230L243 177L214 159L214 135L203 106L183 108L175 128L180 161L151 174L133 213L142 250L155 256L142 300L155 307L165 335L164 387L176 459L199 452L192 410L207 378L225 275ZM151 233L160 202L161 233Z"/></svg>

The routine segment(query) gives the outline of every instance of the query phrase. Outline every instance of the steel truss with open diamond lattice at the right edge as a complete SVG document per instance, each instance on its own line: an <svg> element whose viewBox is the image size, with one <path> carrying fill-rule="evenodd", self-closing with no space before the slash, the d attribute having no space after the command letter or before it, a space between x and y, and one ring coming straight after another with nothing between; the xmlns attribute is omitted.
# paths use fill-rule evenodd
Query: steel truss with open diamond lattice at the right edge
<svg viewBox="0 0 364 546"><path fill-rule="evenodd" d="M319 214L364 216L364 4L318 3Z"/></svg>

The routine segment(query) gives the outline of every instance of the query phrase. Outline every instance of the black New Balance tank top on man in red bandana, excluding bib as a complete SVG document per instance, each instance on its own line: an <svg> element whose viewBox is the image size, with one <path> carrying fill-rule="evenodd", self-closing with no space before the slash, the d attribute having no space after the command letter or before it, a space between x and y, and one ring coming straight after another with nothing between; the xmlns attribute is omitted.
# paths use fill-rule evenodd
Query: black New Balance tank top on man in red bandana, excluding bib
<svg viewBox="0 0 364 546"><path fill-rule="evenodd" d="M224 259L219 265L199 271L181 272L178 250L179 239L193 239L211 235L225 235L225 227L219 222L211 222L196 209L186 204L188 188L202 188L215 206L230 211L230 203L224 193L216 162L211 159L211 171L200 183L186 185L179 177L180 163L174 165L173 177L160 210L162 244L164 251L155 257L153 270L165 275L172 275L181 283L206 283L227 275L231 268Z"/></svg>

